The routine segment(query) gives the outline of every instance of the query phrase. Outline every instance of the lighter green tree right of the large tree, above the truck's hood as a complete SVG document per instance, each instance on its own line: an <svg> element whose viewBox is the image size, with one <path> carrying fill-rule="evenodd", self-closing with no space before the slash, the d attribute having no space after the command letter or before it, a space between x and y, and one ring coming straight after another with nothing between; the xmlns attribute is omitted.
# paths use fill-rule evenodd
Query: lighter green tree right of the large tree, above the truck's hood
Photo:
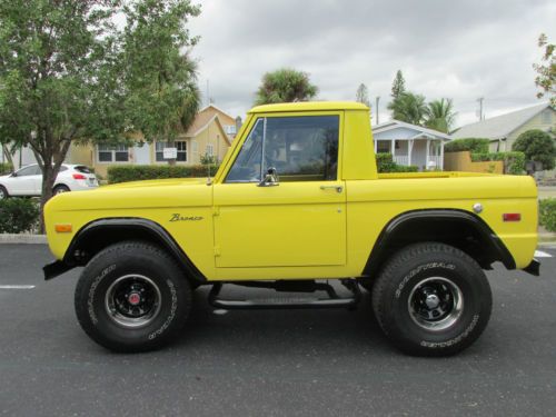
<svg viewBox="0 0 556 417"><path fill-rule="evenodd" d="M190 0L139 0L123 12L129 128L141 131L149 142L172 147L193 122L200 105L197 63L185 52L198 41L186 23L200 9Z"/></svg>

